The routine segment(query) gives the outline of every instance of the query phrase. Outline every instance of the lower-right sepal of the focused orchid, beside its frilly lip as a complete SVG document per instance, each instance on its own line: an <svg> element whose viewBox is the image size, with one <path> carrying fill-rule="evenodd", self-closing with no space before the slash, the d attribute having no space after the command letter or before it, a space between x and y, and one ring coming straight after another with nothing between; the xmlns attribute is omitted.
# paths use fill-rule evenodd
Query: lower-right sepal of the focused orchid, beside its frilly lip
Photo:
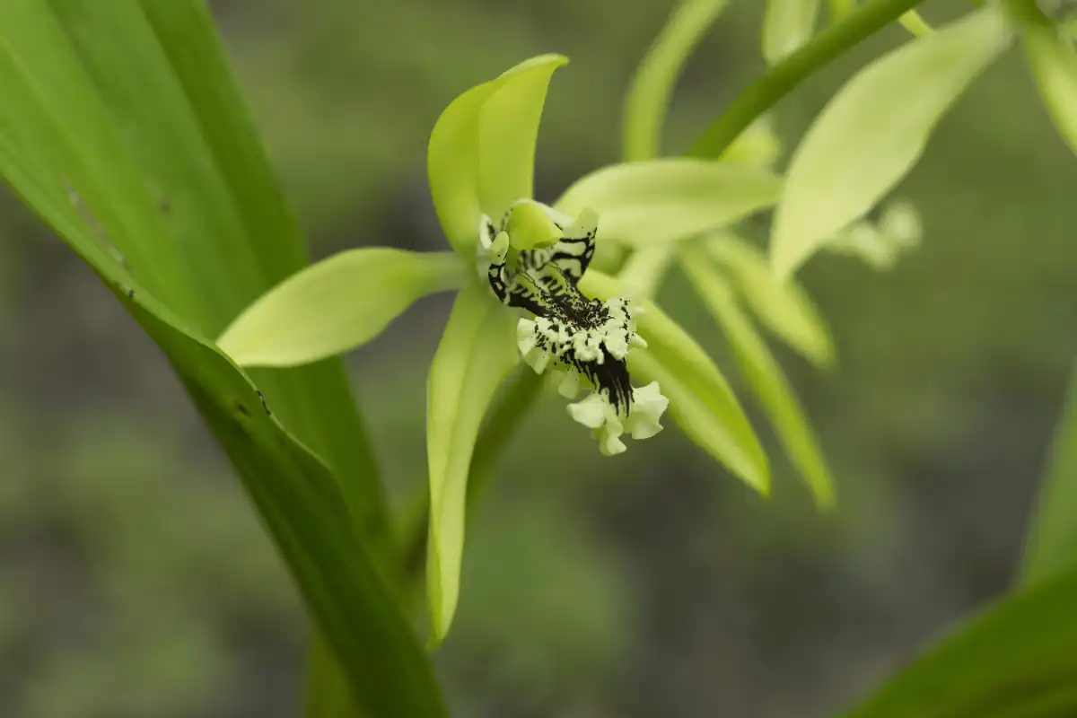
<svg viewBox="0 0 1077 718"><path fill-rule="evenodd" d="M587 296L625 296L627 288L612 277L589 269L579 281ZM729 382L695 339L654 302L639 300L637 321L647 349L633 349L629 369L643 383L657 381L669 400L669 416L684 435L750 487L770 490L767 454Z"/></svg>

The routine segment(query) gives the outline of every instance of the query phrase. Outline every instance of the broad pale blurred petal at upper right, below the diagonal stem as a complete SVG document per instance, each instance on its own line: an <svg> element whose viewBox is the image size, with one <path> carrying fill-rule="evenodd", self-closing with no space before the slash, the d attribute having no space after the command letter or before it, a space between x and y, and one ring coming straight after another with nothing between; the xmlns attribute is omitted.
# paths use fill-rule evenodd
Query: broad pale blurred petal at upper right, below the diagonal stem
<svg viewBox="0 0 1077 718"><path fill-rule="evenodd" d="M771 261L787 277L912 168L935 125L1009 44L997 8L976 11L861 70L793 153Z"/></svg>

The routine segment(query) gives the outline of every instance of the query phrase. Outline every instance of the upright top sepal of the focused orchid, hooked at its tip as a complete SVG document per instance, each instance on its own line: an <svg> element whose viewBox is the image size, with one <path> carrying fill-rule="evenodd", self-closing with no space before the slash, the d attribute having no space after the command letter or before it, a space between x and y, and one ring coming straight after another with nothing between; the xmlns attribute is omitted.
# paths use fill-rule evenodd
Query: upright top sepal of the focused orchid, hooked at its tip
<svg viewBox="0 0 1077 718"><path fill-rule="evenodd" d="M449 103L430 133L426 173L449 243L474 254L479 216L500 219L531 198L535 142L546 88L569 60L541 55L472 87Z"/></svg>

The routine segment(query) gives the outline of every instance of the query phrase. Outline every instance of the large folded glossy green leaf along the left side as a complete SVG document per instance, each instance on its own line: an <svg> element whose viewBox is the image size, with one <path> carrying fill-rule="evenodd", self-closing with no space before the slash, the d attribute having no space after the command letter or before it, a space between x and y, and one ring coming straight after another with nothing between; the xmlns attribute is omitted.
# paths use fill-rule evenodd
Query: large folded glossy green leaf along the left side
<svg viewBox="0 0 1077 718"><path fill-rule="evenodd" d="M166 352L359 700L378 715L440 715L369 553L384 517L342 369L260 372L256 390L208 340L306 258L205 8L3 3L0 83L0 173ZM356 527L375 537L366 548Z"/></svg>

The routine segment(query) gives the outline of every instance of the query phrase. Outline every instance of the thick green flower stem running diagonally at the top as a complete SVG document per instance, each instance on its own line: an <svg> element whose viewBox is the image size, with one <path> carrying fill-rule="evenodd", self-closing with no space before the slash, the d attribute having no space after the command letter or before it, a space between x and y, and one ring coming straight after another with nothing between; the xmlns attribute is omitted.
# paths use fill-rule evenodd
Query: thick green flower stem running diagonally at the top
<svg viewBox="0 0 1077 718"><path fill-rule="evenodd" d="M851 10L811 42L756 78L696 140L687 154L717 157L752 121L809 75L920 2L922 0L873 0Z"/></svg>

